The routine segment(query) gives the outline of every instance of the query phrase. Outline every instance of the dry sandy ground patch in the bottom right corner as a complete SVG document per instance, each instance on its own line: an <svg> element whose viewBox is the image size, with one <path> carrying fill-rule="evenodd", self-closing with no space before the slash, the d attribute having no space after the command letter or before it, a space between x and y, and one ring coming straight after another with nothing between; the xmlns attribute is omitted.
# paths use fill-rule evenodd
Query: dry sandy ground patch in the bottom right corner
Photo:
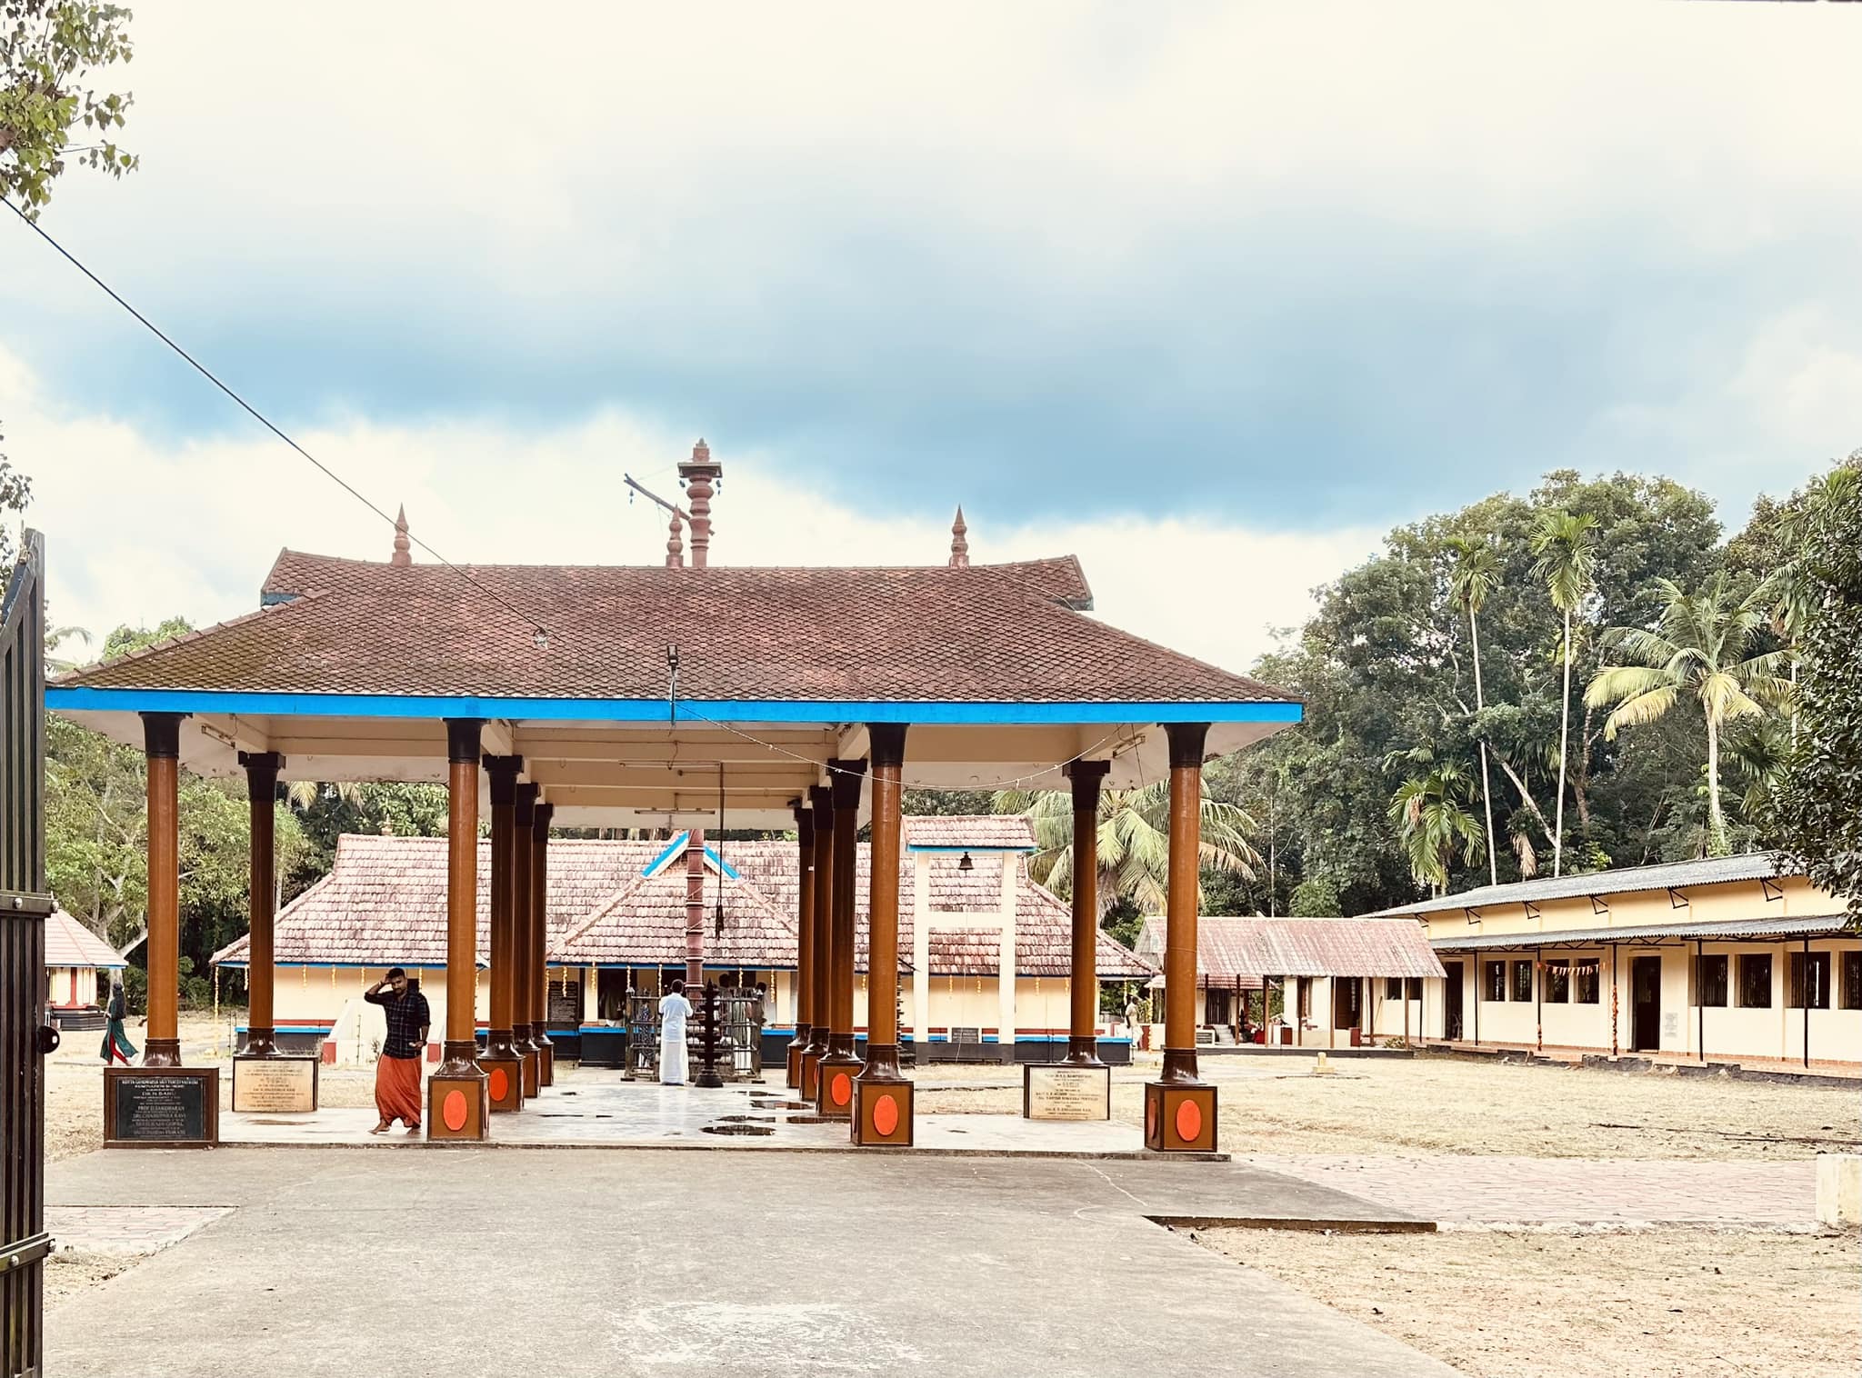
<svg viewBox="0 0 1862 1378"><path fill-rule="evenodd" d="M1478 1378L1853 1378L1862 1367L1855 1231L1195 1238Z"/></svg>

